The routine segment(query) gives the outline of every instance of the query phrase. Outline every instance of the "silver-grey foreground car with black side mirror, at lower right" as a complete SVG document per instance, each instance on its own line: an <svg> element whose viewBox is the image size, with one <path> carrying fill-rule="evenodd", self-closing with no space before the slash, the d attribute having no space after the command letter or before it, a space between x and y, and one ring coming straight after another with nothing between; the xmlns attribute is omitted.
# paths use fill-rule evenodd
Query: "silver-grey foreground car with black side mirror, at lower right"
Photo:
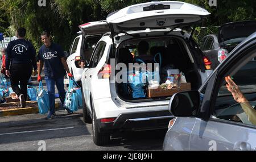
<svg viewBox="0 0 256 162"><path fill-rule="evenodd" d="M172 95L163 150L255 150L256 126L226 89L233 77L255 109L256 32L242 41L199 88Z"/></svg>

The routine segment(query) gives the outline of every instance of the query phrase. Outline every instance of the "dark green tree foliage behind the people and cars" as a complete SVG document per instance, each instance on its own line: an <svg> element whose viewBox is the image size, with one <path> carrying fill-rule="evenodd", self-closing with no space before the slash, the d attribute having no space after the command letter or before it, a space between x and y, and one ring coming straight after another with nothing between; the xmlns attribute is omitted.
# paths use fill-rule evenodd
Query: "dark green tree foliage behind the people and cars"
<svg viewBox="0 0 256 162"><path fill-rule="evenodd" d="M39 7L38 0L0 0L0 32L13 36L18 27L27 29L27 39L36 49L42 45L40 33L48 29L56 43L68 50L79 24L104 20L109 13L123 7L152 0L46 0L46 7ZM254 0L217 0L217 7L210 7L209 0L181 0L192 3L211 13L201 26L219 26L227 22L255 19ZM196 29L199 35L203 31ZM207 31L215 32L215 31Z"/></svg>

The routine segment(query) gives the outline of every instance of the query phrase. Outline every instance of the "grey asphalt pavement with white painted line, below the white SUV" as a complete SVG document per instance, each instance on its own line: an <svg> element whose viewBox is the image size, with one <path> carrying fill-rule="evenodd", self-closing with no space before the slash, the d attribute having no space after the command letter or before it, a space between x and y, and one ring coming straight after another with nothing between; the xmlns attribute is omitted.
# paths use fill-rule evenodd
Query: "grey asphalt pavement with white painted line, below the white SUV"
<svg viewBox="0 0 256 162"><path fill-rule="evenodd" d="M81 109L72 115L63 109L56 114L50 120L40 114L1 117L0 150L162 150L166 130L116 133L108 146L100 147L93 143L92 124L82 121Z"/></svg>

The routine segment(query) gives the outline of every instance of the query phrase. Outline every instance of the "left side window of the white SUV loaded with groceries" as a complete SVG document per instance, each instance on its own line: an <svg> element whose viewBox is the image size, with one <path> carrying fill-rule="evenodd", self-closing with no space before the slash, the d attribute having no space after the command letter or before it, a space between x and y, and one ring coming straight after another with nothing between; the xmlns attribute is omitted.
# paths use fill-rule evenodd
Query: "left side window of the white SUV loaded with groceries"
<svg viewBox="0 0 256 162"><path fill-rule="evenodd" d="M100 41L95 49L95 52L93 54L93 58L92 58L92 62L90 63L90 67L91 68L95 68L98 64L98 62L100 61L103 53L104 53L104 49L106 47L106 43L104 41Z"/></svg>

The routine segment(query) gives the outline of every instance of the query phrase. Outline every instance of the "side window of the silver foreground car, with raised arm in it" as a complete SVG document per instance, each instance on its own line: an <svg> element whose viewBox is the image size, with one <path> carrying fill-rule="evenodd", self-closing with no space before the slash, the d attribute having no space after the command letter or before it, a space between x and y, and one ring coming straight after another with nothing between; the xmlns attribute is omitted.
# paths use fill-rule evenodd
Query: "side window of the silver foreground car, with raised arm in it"
<svg viewBox="0 0 256 162"><path fill-rule="evenodd" d="M226 88L224 77L224 79L221 80L224 84L218 89L217 99L214 103L213 117L226 121L256 125L256 123L252 121L253 119L249 119L248 116L248 110L255 109L256 105L256 61L253 61L255 55L256 53L251 55L248 59L244 58L245 61L243 61L241 68L236 68L238 65L233 65L234 67L230 69L236 69L236 71L232 72L232 70L230 70L230 72L225 75L232 78L248 102L238 103L234 100L232 93Z"/></svg>

